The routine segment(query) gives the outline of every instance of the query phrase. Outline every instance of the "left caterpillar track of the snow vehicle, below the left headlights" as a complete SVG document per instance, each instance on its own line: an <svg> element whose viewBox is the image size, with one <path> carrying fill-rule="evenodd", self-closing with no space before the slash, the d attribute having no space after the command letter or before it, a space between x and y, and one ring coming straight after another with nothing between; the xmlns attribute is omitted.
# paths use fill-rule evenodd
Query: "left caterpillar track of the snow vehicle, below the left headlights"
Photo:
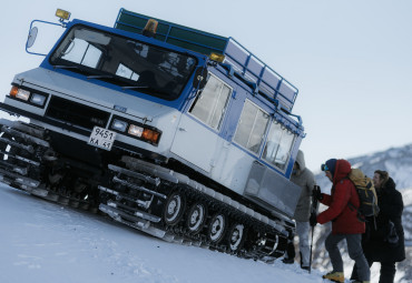
<svg viewBox="0 0 412 283"><path fill-rule="evenodd" d="M1 182L52 202L97 213L91 190L96 181L86 182L86 175L76 174L72 164L59 160L46 135L45 129L33 124L0 120Z"/></svg>

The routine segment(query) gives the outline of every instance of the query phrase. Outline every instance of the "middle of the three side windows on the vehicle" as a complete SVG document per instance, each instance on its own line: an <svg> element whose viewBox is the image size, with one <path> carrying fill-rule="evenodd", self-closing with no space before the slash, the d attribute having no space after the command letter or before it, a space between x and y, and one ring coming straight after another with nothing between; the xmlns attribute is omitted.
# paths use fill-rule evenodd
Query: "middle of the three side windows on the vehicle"
<svg viewBox="0 0 412 283"><path fill-rule="evenodd" d="M269 117L266 112L246 100L236 129L235 142L254 153L258 153L263 144L268 119Z"/></svg>

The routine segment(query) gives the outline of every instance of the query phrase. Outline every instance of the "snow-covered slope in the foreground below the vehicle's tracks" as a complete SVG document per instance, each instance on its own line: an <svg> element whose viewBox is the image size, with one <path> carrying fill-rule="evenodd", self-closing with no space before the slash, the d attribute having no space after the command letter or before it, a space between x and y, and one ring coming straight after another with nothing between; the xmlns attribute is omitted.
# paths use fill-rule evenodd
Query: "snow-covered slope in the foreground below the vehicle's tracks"
<svg viewBox="0 0 412 283"><path fill-rule="evenodd" d="M321 273L167 243L0 184L1 283L312 283Z"/></svg>

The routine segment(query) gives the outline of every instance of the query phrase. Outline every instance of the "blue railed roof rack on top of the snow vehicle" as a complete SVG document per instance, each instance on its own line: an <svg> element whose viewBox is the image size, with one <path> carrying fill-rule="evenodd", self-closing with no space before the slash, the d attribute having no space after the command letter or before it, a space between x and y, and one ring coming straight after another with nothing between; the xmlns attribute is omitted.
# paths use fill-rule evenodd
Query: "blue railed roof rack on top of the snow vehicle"
<svg viewBox="0 0 412 283"><path fill-rule="evenodd" d="M292 112L298 90L261 59L249 52L233 38L225 38L209 32L184 27L153 17L120 9L115 28L141 33L147 20L158 21L157 40L168 42L206 55L220 53L225 55L224 64L239 73L254 84L255 93L264 97L277 108Z"/></svg>

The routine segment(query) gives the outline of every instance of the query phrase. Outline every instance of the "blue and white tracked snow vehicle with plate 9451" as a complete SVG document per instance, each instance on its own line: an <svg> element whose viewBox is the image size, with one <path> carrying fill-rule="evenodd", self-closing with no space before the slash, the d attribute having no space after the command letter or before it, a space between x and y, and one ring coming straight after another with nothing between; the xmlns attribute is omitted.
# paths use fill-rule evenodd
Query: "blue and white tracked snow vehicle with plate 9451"
<svg viewBox="0 0 412 283"><path fill-rule="evenodd" d="M166 241L282 255L297 89L233 38L124 9L114 28L57 16L61 38L0 103L28 119L0 121L2 182Z"/></svg>

